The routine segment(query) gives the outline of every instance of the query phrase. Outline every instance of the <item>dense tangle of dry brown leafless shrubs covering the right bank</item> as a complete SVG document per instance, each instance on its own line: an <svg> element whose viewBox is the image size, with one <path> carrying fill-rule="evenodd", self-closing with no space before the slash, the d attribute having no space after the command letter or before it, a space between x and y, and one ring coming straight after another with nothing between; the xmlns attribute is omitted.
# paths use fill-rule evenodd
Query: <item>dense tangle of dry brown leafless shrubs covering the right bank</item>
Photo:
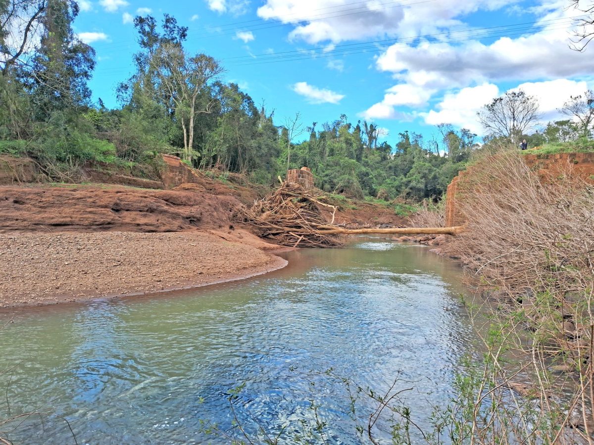
<svg viewBox="0 0 594 445"><path fill-rule="evenodd" d="M482 387L532 380L527 398L538 400L539 409L525 403L507 415L530 419L527 427L501 428L497 437L528 438L538 429L542 443L576 443L560 436L571 426L588 443L594 433L594 187L567 169L558 182L541 184L517 150L477 162L457 201L467 230L445 246L470 282L495 290L488 293L494 304L483 307L492 308L488 330L498 339L496 348L488 344L494 367ZM551 367L575 370L576 378L563 382ZM560 385L563 397L551 390ZM476 400L475 413L482 396Z"/></svg>

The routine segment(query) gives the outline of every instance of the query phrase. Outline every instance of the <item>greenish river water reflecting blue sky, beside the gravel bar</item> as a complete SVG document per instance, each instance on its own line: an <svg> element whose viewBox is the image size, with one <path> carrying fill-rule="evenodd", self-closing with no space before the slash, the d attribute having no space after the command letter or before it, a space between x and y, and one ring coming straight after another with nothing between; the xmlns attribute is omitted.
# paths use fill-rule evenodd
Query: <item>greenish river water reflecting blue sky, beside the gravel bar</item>
<svg viewBox="0 0 594 445"><path fill-rule="evenodd" d="M377 392L399 373L421 425L451 396L457 361L473 349L457 300L459 268L421 246L358 239L345 249L285 254L268 275L200 290L0 313L0 419L29 411L68 418L78 443L228 443L233 405L293 443L299 419L327 421L329 443L357 443L333 368ZM321 373L321 374L320 374ZM407 382L406 382L407 381ZM412 383L410 383L412 382ZM364 415L374 408L358 402ZM52 410L50 410L52 408ZM74 443L64 421L24 417L0 427L15 443ZM380 421L380 436L389 424ZM0 435L1 436L1 435Z"/></svg>

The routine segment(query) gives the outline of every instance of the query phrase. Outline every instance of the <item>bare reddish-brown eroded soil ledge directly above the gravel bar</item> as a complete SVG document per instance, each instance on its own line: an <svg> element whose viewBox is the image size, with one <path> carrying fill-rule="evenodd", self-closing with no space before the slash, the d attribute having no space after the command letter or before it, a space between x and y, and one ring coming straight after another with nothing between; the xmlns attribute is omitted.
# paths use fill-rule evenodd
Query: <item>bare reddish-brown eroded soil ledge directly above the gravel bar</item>
<svg viewBox="0 0 594 445"><path fill-rule="evenodd" d="M229 226L232 195L130 187L0 187L0 232L170 232Z"/></svg>

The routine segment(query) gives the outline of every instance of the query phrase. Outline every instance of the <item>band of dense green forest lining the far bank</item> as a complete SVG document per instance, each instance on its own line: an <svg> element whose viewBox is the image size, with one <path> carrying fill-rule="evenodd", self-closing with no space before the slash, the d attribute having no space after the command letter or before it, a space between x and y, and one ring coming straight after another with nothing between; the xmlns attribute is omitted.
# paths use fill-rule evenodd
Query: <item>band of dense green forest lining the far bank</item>
<svg viewBox="0 0 594 445"><path fill-rule="evenodd" d="M447 124L438 126L439 138L404 131L391 145L379 141L374 123L345 115L321 125L302 122L299 113L275 122L273 111L223 81L216 59L189 54L188 28L167 14L160 22L135 17L134 72L115 91L120 106L107 109L91 100L95 53L72 31L77 14L72 0L0 1L0 153L33 158L53 180L76 180L93 161L150 177L166 152L254 183L271 185L287 167L308 166L328 192L438 198L484 147L472 132ZM494 136L486 142L506 137ZM580 136L567 120L549 123L529 142Z"/></svg>

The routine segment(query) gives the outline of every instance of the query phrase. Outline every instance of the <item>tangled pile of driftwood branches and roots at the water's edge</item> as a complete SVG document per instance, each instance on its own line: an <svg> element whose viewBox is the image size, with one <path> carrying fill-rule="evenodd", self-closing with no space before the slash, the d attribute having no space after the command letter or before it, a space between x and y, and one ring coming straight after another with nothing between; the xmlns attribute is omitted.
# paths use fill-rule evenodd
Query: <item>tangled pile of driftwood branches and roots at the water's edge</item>
<svg viewBox="0 0 594 445"><path fill-rule="evenodd" d="M284 182L274 193L259 199L253 206L238 206L235 220L251 225L263 238L281 246L335 247L341 244L337 234L324 234L334 228L336 206L322 202L314 191L296 183ZM320 207L333 209L332 220L326 221Z"/></svg>

